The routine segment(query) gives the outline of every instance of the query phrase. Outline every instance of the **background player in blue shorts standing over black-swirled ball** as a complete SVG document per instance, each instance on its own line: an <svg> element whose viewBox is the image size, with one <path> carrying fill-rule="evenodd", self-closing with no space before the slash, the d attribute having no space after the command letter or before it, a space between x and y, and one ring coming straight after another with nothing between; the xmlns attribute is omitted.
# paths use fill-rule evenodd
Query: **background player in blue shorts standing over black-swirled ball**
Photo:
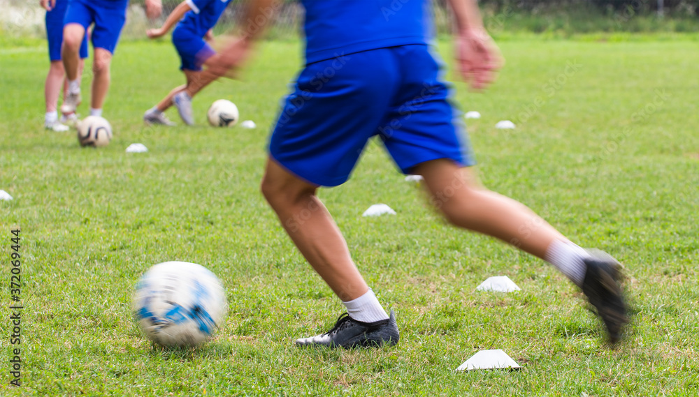
<svg viewBox="0 0 699 397"><path fill-rule="evenodd" d="M61 111L75 112L80 105L78 51L90 24L92 28L92 97L90 116L101 116L110 84L110 63L127 17L129 0L70 0L63 29L63 65L68 77L68 96ZM145 0L146 15L154 18L162 11L161 0Z"/></svg>

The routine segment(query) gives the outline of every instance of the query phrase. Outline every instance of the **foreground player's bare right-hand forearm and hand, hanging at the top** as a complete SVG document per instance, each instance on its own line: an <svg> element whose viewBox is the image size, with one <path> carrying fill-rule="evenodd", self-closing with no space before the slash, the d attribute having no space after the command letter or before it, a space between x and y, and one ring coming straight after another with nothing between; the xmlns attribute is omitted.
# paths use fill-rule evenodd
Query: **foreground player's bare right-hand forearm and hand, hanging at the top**
<svg viewBox="0 0 699 397"><path fill-rule="evenodd" d="M495 80L503 66L500 50L483 27L476 0L449 0L456 19L456 61L459 71L473 89L483 89Z"/></svg>

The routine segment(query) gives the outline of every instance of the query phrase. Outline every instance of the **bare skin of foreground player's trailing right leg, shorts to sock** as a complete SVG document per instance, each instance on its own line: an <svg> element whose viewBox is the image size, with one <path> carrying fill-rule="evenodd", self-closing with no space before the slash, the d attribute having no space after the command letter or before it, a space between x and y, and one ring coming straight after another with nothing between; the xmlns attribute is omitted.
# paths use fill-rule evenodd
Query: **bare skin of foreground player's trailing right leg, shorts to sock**
<svg viewBox="0 0 699 397"><path fill-rule="evenodd" d="M524 204L482 188L475 172L452 160L428 161L415 167L431 202L449 223L488 234L544 259L555 240L568 241Z"/></svg>

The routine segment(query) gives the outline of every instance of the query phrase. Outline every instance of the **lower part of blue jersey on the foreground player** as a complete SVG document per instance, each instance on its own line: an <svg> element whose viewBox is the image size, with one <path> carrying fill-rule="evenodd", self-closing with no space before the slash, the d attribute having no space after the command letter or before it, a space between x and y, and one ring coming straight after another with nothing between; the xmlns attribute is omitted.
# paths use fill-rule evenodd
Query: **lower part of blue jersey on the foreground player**
<svg viewBox="0 0 699 397"><path fill-rule="evenodd" d="M433 37L428 0L301 0L306 63Z"/></svg>

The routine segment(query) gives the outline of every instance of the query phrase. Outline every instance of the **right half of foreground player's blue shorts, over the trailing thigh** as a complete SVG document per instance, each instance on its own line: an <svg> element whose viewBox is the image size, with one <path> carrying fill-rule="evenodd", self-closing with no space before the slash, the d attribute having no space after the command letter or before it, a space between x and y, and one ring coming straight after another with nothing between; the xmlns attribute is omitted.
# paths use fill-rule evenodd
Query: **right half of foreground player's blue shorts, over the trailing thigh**
<svg viewBox="0 0 699 397"><path fill-rule="evenodd" d="M382 121L379 135L404 173L426 161L447 158L474 165L461 112L442 81L443 65L426 45L401 47L401 93Z"/></svg>

